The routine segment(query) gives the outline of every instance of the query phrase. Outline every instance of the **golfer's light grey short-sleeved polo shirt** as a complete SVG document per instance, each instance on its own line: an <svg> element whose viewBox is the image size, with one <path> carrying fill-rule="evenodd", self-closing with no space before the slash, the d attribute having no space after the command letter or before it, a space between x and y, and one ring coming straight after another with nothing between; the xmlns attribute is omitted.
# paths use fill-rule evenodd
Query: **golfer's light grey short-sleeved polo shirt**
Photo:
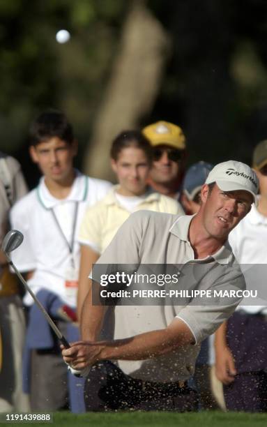
<svg viewBox="0 0 267 427"><path fill-rule="evenodd" d="M188 240L192 216L151 211L132 213L96 264L178 264L181 288L245 289L245 281L228 242L212 256L194 260ZM201 274L196 270L201 264ZM105 271L102 271L104 273ZM93 274L93 278L96 277ZM191 329L196 345L185 345L173 352L144 361L118 361L120 368L142 380L169 382L187 380L194 372L201 340L213 334L234 312L240 299L233 297L215 305L175 306L171 299L160 306L116 306L114 339L128 338L156 329L165 329L181 318Z"/></svg>

